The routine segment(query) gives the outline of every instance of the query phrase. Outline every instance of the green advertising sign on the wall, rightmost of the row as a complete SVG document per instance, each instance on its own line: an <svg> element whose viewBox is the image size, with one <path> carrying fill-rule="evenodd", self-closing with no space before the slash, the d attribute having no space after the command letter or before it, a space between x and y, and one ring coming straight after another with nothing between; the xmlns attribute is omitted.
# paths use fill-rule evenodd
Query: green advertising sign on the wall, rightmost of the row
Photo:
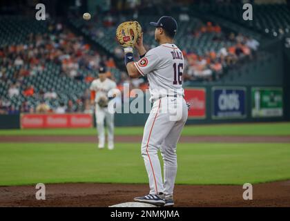
<svg viewBox="0 0 290 221"><path fill-rule="evenodd" d="M282 88L252 88L252 117L282 117Z"/></svg>

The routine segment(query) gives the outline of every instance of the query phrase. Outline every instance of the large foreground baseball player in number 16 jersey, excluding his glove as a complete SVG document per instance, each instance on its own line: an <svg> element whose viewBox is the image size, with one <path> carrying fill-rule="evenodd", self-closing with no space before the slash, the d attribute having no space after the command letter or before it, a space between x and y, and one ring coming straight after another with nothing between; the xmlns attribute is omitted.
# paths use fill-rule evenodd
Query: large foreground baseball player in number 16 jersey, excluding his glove
<svg viewBox="0 0 290 221"><path fill-rule="evenodd" d="M124 48L128 75L147 76L153 102L142 140L142 156L148 173L150 193L134 200L157 206L173 206L177 173L176 146L188 116L182 88L184 57L173 43L177 31L177 22L173 17L164 16L157 23L150 24L155 26L155 41L160 46L147 52L141 35L135 45L140 55L137 62L133 60L133 48ZM178 117L172 117L171 113L177 113ZM164 180L157 155L159 150L164 160Z"/></svg>

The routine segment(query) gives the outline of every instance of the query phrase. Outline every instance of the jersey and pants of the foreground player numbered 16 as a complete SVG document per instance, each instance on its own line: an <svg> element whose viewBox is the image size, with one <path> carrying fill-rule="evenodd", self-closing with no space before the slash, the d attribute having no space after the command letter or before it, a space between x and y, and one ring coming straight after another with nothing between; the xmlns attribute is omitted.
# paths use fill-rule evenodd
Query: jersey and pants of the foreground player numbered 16
<svg viewBox="0 0 290 221"><path fill-rule="evenodd" d="M150 193L173 194L177 173L176 146L188 117L183 98L184 58L175 44L162 44L134 63L148 77L153 108L144 127L142 156L148 173ZM164 160L164 182L157 152Z"/></svg>

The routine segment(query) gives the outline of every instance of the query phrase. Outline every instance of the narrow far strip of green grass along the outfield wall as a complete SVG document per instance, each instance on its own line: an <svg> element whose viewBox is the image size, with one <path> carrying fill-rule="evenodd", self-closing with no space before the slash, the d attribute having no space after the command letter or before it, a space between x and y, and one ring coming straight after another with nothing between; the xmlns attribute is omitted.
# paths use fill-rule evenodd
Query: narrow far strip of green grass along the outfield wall
<svg viewBox="0 0 290 221"><path fill-rule="evenodd" d="M142 135L144 127L117 127L116 135ZM0 130L0 135L95 135L95 128ZM185 126L182 135L290 135L290 123Z"/></svg>

